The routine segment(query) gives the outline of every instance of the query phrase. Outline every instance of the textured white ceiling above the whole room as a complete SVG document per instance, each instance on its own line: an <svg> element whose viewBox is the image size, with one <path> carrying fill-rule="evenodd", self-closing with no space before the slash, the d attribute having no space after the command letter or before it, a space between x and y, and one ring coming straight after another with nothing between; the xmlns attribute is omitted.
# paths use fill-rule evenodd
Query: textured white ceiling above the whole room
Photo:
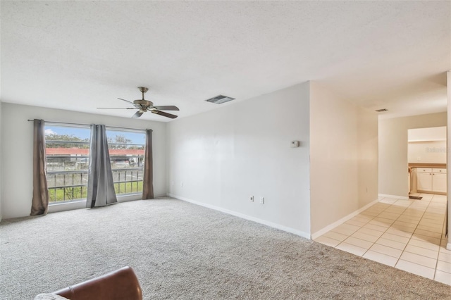
<svg viewBox="0 0 451 300"><path fill-rule="evenodd" d="M180 117L318 80L385 116L445 111L451 1L1 1L4 102ZM287 108L290 109L290 108ZM167 121L147 113L148 120Z"/></svg>

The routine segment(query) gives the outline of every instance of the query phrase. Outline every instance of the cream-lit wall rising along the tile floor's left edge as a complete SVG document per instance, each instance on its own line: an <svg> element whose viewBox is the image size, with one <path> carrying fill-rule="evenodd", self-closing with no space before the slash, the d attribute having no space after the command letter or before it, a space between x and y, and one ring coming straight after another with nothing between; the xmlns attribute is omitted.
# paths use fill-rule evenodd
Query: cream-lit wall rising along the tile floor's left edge
<svg viewBox="0 0 451 300"><path fill-rule="evenodd" d="M310 87L311 232L377 199L378 119L326 87Z"/></svg>

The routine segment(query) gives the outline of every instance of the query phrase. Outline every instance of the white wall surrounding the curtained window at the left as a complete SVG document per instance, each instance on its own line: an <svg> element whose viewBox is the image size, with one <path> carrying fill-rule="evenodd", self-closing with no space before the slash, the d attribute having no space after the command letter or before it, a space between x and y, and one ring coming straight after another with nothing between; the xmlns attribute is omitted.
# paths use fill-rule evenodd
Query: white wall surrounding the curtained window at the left
<svg viewBox="0 0 451 300"><path fill-rule="evenodd" d="M3 218L30 215L32 201L33 123L27 119L55 122L105 124L152 129L154 194L166 195L166 123L51 108L1 103L2 213Z"/></svg>

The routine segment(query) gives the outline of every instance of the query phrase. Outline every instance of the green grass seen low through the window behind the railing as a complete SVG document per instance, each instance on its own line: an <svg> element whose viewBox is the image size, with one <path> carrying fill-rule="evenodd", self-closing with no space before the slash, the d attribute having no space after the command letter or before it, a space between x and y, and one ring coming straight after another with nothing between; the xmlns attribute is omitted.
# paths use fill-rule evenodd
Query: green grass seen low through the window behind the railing
<svg viewBox="0 0 451 300"><path fill-rule="evenodd" d="M114 184L114 191L118 194L140 193L142 192L142 181L121 182ZM74 199L86 199L87 187L66 187L65 189L49 188L49 201L70 201Z"/></svg>

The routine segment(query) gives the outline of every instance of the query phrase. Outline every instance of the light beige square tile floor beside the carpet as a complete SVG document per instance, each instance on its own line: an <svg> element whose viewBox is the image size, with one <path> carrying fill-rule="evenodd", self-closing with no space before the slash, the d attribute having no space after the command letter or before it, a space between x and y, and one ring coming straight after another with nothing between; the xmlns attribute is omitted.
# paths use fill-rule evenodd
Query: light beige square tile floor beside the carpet
<svg viewBox="0 0 451 300"><path fill-rule="evenodd" d="M315 241L451 285L446 196L415 195L423 199L381 198Z"/></svg>

